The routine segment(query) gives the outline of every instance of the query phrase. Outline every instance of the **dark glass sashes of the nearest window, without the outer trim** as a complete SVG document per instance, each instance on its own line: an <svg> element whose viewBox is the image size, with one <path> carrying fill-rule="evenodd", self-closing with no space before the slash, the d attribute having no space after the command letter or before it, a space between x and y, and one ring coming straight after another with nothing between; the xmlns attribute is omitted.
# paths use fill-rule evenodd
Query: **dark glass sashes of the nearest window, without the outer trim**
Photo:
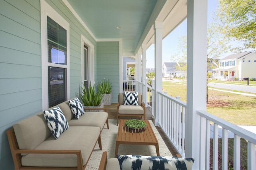
<svg viewBox="0 0 256 170"><path fill-rule="evenodd" d="M66 100L67 31L47 17L48 106Z"/></svg>

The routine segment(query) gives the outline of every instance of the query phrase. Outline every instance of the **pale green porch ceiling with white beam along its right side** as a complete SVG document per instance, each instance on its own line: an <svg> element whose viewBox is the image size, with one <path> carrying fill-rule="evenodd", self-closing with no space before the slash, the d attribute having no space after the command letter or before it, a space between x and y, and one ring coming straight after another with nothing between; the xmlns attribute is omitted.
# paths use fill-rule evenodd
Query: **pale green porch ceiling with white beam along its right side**
<svg viewBox="0 0 256 170"><path fill-rule="evenodd" d="M98 39L121 39L123 56L154 43L154 21L164 21L163 37L186 18L186 0L66 0ZM116 27L122 27L117 29Z"/></svg>

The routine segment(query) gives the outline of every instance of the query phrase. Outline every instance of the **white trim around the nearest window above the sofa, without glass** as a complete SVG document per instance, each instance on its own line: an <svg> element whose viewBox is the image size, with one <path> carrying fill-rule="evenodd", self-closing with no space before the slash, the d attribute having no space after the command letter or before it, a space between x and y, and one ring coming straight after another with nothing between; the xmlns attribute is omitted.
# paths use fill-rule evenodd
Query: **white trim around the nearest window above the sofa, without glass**
<svg viewBox="0 0 256 170"><path fill-rule="evenodd" d="M49 4L44 0L40 0L41 6L41 53L42 53L42 109L48 109L48 54L47 54L47 16L56 21L67 31L67 65L66 68L66 92L67 98L70 98L70 32L69 23L60 16ZM51 64L52 65L52 64ZM59 65L59 64L58 64Z"/></svg>

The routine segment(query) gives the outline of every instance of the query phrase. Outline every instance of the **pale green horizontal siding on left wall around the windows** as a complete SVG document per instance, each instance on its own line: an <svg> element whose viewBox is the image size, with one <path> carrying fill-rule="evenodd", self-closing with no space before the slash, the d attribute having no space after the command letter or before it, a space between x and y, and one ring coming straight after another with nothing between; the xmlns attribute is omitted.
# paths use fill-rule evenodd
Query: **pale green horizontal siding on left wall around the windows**
<svg viewBox="0 0 256 170"><path fill-rule="evenodd" d="M70 24L70 97L81 85L81 34L96 41L62 0L46 2ZM0 169L14 169L6 130L42 111L40 0L0 1ZM95 75L97 73L95 72Z"/></svg>

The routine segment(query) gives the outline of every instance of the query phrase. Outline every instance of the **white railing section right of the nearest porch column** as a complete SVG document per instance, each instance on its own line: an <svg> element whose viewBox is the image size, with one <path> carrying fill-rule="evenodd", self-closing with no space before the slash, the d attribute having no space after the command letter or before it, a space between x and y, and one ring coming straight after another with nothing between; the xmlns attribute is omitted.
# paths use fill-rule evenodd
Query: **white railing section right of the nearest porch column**
<svg viewBox="0 0 256 170"><path fill-rule="evenodd" d="M213 130L213 170L218 170L218 131L222 127L222 169L228 169L228 131L234 133L234 170L240 170L240 139L248 141L247 169L256 169L256 134L228 121L220 119L206 111L198 110L200 115L200 169L210 168L210 122L214 123Z"/></svg>

